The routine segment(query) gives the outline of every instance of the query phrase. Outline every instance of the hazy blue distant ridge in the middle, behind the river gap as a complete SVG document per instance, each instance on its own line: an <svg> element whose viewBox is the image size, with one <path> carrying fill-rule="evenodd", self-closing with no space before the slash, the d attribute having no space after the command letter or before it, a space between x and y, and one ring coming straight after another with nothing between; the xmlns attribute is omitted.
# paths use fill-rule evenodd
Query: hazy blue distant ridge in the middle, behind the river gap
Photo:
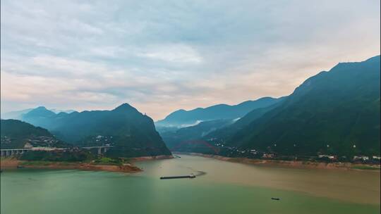
<svg viewBox="0 0 381 214"><path fill-rule="evenodd" d="M245 101L238 105L229 106L219 104L207 108L195 108L191 111L183 109L169 114L164 120L159 120L155 124L158 127L186 127L197 125L198 122L207 120L234 120L241 118L246 113L255 108L263 108L277 103L279 99L263 97L255 101Z"/></svg>

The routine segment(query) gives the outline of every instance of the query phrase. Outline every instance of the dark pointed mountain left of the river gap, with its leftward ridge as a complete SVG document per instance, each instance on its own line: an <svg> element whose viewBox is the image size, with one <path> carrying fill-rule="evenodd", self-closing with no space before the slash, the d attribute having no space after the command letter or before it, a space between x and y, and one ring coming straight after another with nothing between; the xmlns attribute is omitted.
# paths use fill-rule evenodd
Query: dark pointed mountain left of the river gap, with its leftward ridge
<svg viewBox="0 0 381 214"><path fill-rule="evenodd" d="M169 155L153 120L124 103L112 111L54 113L39 107L23 119L77 146L114 145L107 156Z"/></svg>

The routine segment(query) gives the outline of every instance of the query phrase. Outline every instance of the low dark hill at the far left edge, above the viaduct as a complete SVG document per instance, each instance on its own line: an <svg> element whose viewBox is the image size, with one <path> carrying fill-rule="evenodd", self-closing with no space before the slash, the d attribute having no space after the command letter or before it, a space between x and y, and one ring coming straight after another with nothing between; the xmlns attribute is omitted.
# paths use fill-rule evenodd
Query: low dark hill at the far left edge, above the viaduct
<svg viewBox="0 0 381 214"><path fill-rule="evenodd" d="M1 149L67 146L56 139L48 130L35 127L20 120L1 120Z"/></svg>

